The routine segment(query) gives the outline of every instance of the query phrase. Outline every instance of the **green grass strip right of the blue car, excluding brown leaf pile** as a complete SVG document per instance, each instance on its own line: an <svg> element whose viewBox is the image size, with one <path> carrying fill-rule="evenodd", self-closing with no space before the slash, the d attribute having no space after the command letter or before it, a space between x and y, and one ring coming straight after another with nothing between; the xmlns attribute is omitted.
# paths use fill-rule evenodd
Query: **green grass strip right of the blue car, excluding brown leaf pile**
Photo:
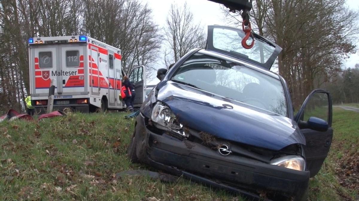
<svg viewBox="0 0 359 201"><path fill-rule="evenodd" d="M359 150L359 113L333 108L334 136L328 157L318 175L310 181L309 200L344 200L343 198L359 199L359 192L340 185L336 168L342 156L348 152Z"/></svg>

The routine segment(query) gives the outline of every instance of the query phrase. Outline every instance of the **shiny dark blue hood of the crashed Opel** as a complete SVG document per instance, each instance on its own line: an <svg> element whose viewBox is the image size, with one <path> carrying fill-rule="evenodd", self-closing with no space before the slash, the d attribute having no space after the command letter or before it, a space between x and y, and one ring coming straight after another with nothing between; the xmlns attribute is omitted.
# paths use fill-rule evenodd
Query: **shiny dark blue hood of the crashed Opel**
<svg viewBox="0 0 359 201"><path fill-rule="evenodd" d="M185 126L252 146L280 150L305 145L297 123L276 113L168 81L157 99L167 104Z"/></svg>

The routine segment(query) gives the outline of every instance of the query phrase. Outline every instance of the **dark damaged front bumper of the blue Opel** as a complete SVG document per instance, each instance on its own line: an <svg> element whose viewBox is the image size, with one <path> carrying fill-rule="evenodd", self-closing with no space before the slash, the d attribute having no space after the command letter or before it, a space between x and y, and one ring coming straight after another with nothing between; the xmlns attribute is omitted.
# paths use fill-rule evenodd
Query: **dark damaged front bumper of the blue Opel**
<svg viewBox="0 0 359 201"><path fill-rule="evenodd" d="M145 150L137 153L142 162L190 177L192 181L237 190L249 198L258 199L261 192L288 197L289 200L293 197L293 200L301 201L307 197L308 171L291 170L241 156L222 156L217 150L202 144L178 139L165 132L152 132L141 115L136 121L136 135L139 135Z"/></svg>

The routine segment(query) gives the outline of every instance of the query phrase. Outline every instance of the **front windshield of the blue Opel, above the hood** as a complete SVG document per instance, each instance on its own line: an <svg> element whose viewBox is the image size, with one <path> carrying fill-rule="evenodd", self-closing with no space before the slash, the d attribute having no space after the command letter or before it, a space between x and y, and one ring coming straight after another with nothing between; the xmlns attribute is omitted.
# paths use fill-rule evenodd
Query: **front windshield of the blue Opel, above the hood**
<svg viewBox="0 0 359 201"><path fill-rule="evenodd" d="M287 116L280 80L237 63L195 53L171 80Z"/></svg>

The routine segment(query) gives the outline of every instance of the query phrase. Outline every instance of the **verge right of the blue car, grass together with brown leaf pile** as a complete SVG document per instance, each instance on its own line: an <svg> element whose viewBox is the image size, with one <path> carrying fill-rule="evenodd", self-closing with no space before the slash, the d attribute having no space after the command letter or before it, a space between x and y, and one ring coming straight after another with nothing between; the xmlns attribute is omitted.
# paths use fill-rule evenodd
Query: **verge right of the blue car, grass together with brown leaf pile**
<svg viewBox="0 0 359 201"><path fill-rule="evenodd" d="M333 108L334 136L318 175L311 179L309 200L359 200L359 113Z"/></svg>

